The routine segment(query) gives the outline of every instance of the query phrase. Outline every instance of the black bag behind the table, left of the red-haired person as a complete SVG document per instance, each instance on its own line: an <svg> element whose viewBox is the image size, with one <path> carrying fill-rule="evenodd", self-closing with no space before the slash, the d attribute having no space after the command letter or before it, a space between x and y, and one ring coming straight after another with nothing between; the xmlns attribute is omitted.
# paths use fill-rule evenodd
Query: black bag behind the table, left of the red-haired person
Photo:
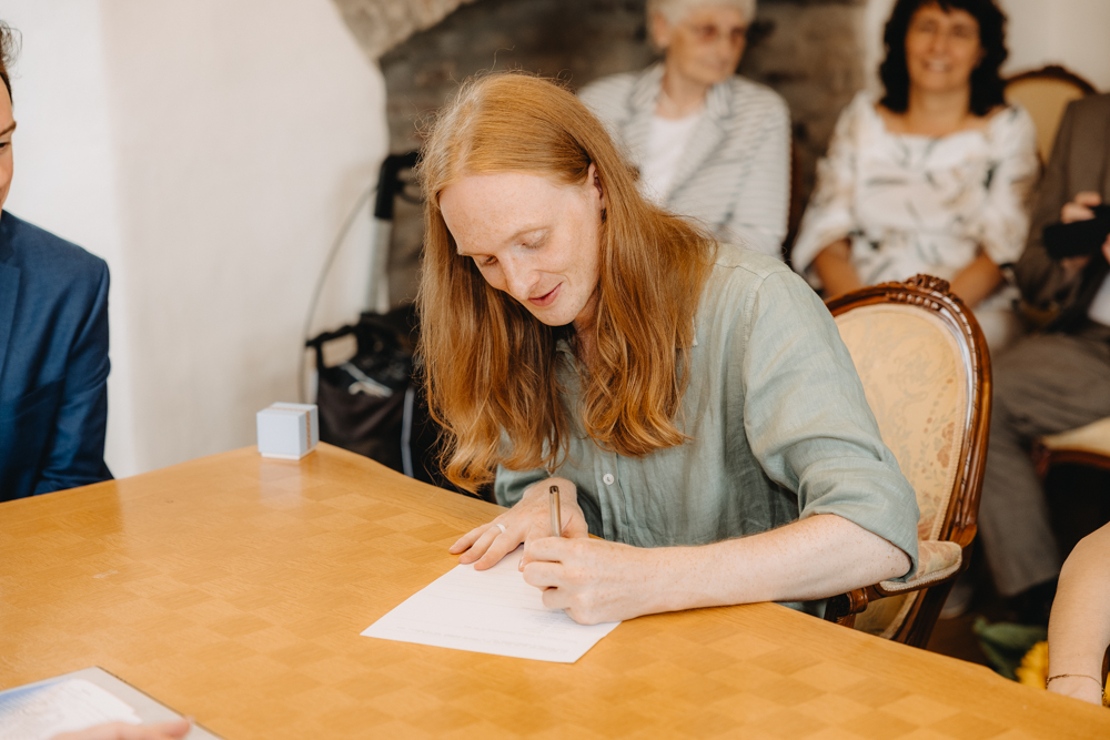
<svg viewBox="0 0 1110 740"><path fill-rule="evenodd" d="M357 324L309 341L316 352L320 439L411 478L465 493L438 468L440 427L413 374L415 325L415 311L404 306L389 314L364 313ZM352 334L355 355L326 366L324 345Z"/></svg>

